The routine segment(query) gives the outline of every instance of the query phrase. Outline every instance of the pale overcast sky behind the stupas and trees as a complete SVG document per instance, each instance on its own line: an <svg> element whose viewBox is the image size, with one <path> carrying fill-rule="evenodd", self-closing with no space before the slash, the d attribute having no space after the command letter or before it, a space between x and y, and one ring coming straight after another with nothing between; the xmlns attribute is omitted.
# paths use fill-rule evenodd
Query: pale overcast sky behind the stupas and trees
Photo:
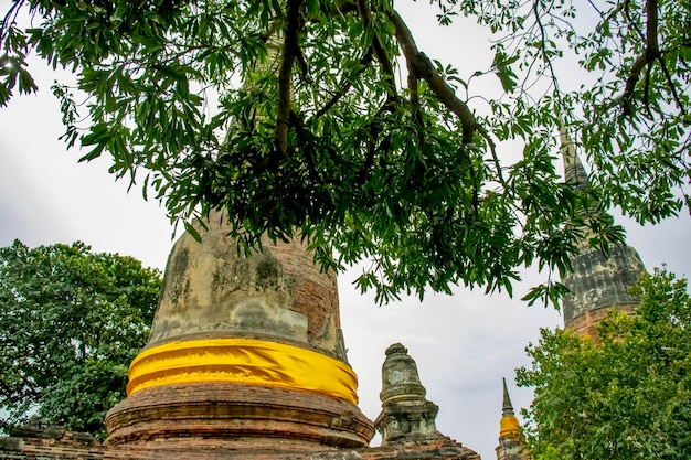
<svg viewBox="0 0 691 460"><path fill-rule="evenodd" d="M8 3L0 0L0 11ZM422 15L423 10L408 12L407 18L419 47L430 57L461 60L470 74L491 64L489 43L477 30L425 33L429 25ZM172 246L172 228L163 210L156 202L145 202L137 186L127 193L127 183L116 183L107 173L105 159L77 163L79 152L65 151L57 140L63 128L51 81L47 75L39 82L40 95L17 97L0 108L0 245L14 238L29 246L83 240L96 252L131 255L163 269ZM667 263L678 275L691 271L688 214L656 227L620 222L628 229L629 245L638 249L649 270ZM360 378L362 410L371 419L378 416L384 350L401 342L417 362L427 398L440 407L439 430L485 460L493 459L501 377L509 382L517 411L527 407L531 392L515 388L514 370L528 364L523 350L536 341L540 328L562 325L554 310L528 308L519 300L544 277L524 274L513 299L458 288L453 296L428 295L422 303L405 299L376 307L373 296L361 295L352 286L357 276L357 269L344 272L339 285L346 345Z"/></svg>

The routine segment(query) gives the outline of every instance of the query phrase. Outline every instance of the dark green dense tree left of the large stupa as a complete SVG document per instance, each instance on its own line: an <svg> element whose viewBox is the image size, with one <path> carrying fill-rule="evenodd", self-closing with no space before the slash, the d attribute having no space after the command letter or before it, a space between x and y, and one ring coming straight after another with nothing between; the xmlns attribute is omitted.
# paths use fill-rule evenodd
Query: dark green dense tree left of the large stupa
<svg viewBox="0 0 691 460"><path fill-rule="evenodd" d="M83 243L0 248L0 428L35 414L103 437L160 284L157 269Z"/></svg>

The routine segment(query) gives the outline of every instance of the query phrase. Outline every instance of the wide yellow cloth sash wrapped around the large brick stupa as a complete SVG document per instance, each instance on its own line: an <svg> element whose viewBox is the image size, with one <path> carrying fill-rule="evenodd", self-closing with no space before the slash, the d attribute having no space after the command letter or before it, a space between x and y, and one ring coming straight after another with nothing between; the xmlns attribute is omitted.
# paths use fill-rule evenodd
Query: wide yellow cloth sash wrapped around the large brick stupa
<svg viewBox="0 0 691 460"><path fill-rule="evenodd" d="M127 394L192 382L237 382L317 392L358 404L358 377L338 360L263 340L206 339L145 350L129 366Z"/></svg>

